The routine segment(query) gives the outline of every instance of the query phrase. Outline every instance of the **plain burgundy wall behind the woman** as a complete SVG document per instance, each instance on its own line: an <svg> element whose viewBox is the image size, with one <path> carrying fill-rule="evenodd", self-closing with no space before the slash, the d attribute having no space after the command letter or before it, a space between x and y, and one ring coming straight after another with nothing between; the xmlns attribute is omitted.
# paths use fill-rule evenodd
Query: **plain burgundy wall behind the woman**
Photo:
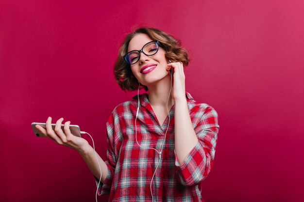
<svg viewBox="0 0 304 202"><path fill-rule="evenodd" d="M304 201L303 10L303 0L1 0L0 201L95 200L77 152L30 124L64 117L105 157L106 120L136 93L112 67L138 24L182 40L186 90L218 111L205 201Z"/></svg>

